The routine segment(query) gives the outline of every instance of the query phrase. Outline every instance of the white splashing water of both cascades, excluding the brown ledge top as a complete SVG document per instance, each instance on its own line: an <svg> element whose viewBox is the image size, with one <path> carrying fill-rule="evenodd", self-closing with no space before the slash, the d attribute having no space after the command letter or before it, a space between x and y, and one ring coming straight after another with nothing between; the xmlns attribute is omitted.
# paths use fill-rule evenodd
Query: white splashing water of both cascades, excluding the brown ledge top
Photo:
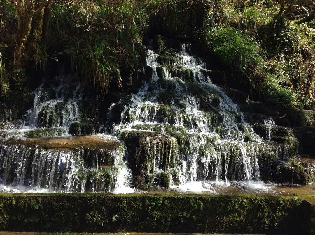
<svg viewBox="0 0 315 235"><path fill-rule="evenodd" d="M169 155L174 157L174 161L168 161L168 165L163 166L158 139L148 143L154 158L153 174L162 169L176 168L179 185L176 186L172 180L170 182L174 191L215 194L230 187L240 191L272 193L273 186L261 181L261 149L278 160L286 155L285 149L269 145L253 132L238 105L200 72L205 64L199 58L188 55L184 49L178 54L178 60L173 65L182 66L183 71L192 70L193 83L184 81L183 75L172 77L151 50L148 50L147 64L153 70L152 79L145 82L137 94L131 95L121 113L120 123L113 125L112 135L119 136L123 131L130 130L155 132L154 127L159 127L162 135L169 139L163 147L169 148ZM157 72L159 67L163 69L163 77L157 75L161 72ZM25 117L25 127L4 130L0 137L25 138L29 131L46 127L62 129L62 135L69 137L71 123L81 121L84 112L81 101L86 98L83 94L88 93L78 80L71 82L70 78L61 76L54 82L44 81L35 92L34 107ZM215 99L218 104L215 104ZM208 110L203 107L205 104ZM115 105L119 103L110 107L109 119ZM274 122L268 119L264 124L272 125ZM170 128L171 133L186 133L186 145L182 149L169 135ZM251 141L245 142L248 136ZM107 186L101 172L106 171L108 166L104 168L97 161L93 162L93 167L87 166L82 160L83 150L47 150L23 145L2 145L2 149L0 192L135 192L130 183L131 170L126 167L121 149L108 152L113 159L111 168L108 168L112 171L113 181ZM33 156L32 161L29 156ZM12 172L14 178L10 178ZM96 176L99 174L100 178Z"/></svg>

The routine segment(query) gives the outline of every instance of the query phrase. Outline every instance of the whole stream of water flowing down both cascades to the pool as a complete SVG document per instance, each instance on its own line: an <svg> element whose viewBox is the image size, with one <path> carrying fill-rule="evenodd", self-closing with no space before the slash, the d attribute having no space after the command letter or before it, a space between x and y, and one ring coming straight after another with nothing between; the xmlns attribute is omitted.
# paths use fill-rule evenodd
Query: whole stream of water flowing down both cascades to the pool
<svg viewBox="0 0 315 235"><path fill-rule="evenodd" d="M167 56L148 46L149 79L137 94L112 103L106 123L86 124L100 117L80 79L45 79L24 120L7 115L1 123L0 192L143 192L134 189L126 142L136 134L146 141L152 179L169 175L169 188L158 192L291 194L293 188L263 183L273 181L274 164L289 154L270 141L272 118L255 120L270 126L262 139L186 46ZM115 107L122 107L119 120ZM76 125L91 134L73 136ZM295 189L303 187L315 193L313 184Z"/></svg>

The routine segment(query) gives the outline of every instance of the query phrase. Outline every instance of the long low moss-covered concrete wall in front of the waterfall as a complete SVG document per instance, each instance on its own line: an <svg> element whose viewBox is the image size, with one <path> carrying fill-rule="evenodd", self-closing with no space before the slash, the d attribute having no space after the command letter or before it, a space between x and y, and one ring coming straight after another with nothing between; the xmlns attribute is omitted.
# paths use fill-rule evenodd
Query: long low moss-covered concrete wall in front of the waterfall
<svg viewBox="0 0 315 235"><path fill-rule="evenodd" d="M309 210L297 196L2 194L0 230L311 234Z"/></svg>

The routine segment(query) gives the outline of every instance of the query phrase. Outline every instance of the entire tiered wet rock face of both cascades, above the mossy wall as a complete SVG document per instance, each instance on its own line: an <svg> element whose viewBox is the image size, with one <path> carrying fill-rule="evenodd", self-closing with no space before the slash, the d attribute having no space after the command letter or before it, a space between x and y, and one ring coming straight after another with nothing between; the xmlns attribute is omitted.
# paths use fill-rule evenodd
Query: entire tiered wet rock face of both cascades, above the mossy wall
<svg viewBox="0 0 315 235"><path fill-rule="evenodd" d="M315 166L296 159L299 144L312 151L312 129L296 138L292 127L301 126L300 111L223 89L225 72L190 47L156 36L138 82L102 104L71 76L44 80L23 120L0 103L1 182L58 192L312 182Z"/></svg>

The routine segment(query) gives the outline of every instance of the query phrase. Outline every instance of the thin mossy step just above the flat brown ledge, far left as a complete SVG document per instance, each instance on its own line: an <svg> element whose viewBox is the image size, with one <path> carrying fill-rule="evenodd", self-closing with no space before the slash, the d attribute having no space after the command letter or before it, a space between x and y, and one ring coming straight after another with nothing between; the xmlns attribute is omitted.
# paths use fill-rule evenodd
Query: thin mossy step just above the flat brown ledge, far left
<svg viewBox="0 0 315 235"><path fill-rule="evenodd" d="M35 129L17 129L17 130L0 130L0 138L32 138L40 136L62 136L67 132L62 128L35 128Z"/></svg>

